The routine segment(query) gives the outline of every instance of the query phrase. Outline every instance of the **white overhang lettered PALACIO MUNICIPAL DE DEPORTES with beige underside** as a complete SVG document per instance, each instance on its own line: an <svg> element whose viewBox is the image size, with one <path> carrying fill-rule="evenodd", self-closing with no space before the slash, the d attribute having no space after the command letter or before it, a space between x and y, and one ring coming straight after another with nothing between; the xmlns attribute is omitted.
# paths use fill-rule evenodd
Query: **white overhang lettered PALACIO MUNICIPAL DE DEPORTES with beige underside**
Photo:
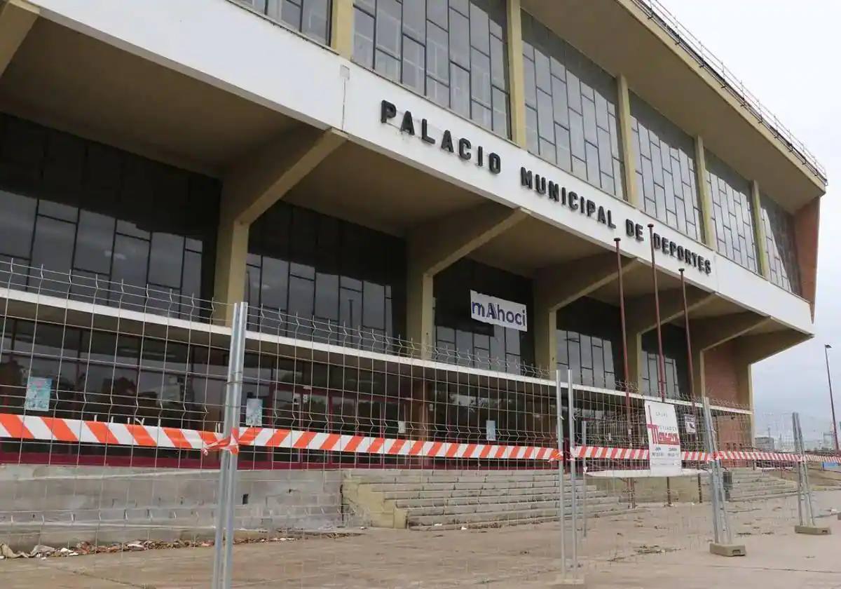
<svg viewBox="0 0 841 589"><path fill-rule="evenodd" d="M595 0L594 6L605 3ZM46 124L150 157L167 154L165 162L185 161L212 173L224 172L294 125L334 129L347 141L296 184L285 201L399 236L479 204L523 210L525 220L471 257L532 276L540 268L612 252L618 237L621 256L642 263L628 277L627 288L637 295L652 292L652 223L655 244L661 244L655 254L660 289L677 288L679 270L685 268L691 288L729 303L722 315L750 310L774 318L784 329L812 332L806 300L510 141L235 3L206 3L202 19L190 18L192 7L166 0L148 0L147 8L132 19L106 0L37 4L40 19L0 79L2 109L24 116L34 112L34 119ZM220 38L230 43L222 45ZM284 61L280 71L277 56L295 59ZM88 67L79 67L80 62ZM313 72L320 74L314 78ZM132 97L138 81L145 92ZM393 114L386 111L383 116L383 101L394 105ZM407 112L414 134L401 129ZM61 125L52 122L62 116ZM424 132L431 141L424 141ZM447 133L452 151L444 141ZM763 145L773 146L770 141ZM498 167L491 165L492 156L499 157ZM768 157L775 162L780 153ZM764 166L774 167L783 166ZM531 187L524 186L523 171L531 174ZM538 176L547 183L545 192L536 188ZM801 171L791 178L814 186ZM685 250L695 254L690 262L677 255ZM613 289L607 285L594 295L616 302L611 300Z"/></svg>

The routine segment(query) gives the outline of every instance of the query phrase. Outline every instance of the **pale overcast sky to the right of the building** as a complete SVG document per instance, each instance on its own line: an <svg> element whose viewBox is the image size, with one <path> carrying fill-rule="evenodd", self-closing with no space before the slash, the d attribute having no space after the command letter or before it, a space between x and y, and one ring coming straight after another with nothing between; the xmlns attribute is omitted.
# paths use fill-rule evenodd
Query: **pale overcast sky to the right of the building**
<svg viewBox="0 0 841 589"><path fill-rule="evenodd" d="M821 204L817 335L754 364L758 426L801 411L807 430L830 422L823 344L830 350L841 420L841 263L833 255L841 215L841 2L836 0L660 0L803 141L827 169ZM841 194L841 193L839 193ZM773 417L772 417L773 416ZM758 427L759 430L759 427ZM761 435L757 431L757 435Z"/></svg>

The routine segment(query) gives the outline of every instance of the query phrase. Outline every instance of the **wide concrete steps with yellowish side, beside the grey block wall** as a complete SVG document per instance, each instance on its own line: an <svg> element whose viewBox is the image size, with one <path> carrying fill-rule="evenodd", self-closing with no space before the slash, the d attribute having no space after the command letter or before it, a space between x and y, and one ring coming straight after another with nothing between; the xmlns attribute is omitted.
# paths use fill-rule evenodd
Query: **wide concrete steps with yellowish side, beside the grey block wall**
<svg viewBox="0 0 841 589"><path fill-rule="evenodd" d="M569 517L571 486L566 483ZM584 485L576 485L584 500ZM555 470L348 470L342 498L373 527L442 530L498 528L558 519ZM587 486L587 515L626 509Z"/></svg>

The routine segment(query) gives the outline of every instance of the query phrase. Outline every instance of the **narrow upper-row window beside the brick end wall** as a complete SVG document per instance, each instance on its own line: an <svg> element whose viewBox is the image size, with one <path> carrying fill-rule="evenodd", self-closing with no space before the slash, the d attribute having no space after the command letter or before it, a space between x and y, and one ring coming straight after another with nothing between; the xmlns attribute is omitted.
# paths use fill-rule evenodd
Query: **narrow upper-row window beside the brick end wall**
<svg viewBox="0 0 841 589"><path fill-rule="evenodd" d="M797 264L794 216L767 194L762 194L760 201L765 230L764 247L768 256L771 282L792 293L800 294L800 267Z"/></svg>

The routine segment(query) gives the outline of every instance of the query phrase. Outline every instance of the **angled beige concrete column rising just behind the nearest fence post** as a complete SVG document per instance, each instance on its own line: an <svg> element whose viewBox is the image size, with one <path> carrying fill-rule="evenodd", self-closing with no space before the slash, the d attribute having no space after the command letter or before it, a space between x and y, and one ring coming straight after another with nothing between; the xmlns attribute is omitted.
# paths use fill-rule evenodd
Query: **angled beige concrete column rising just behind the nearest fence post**
<svg viewBox="0 0 841 589"><path fill-rule="evenodd" d="M296 126L249 154L225 174L216 244L214 316L230 321L230 304L244 300L248 228L346 141L336 130Z"/></svg>

